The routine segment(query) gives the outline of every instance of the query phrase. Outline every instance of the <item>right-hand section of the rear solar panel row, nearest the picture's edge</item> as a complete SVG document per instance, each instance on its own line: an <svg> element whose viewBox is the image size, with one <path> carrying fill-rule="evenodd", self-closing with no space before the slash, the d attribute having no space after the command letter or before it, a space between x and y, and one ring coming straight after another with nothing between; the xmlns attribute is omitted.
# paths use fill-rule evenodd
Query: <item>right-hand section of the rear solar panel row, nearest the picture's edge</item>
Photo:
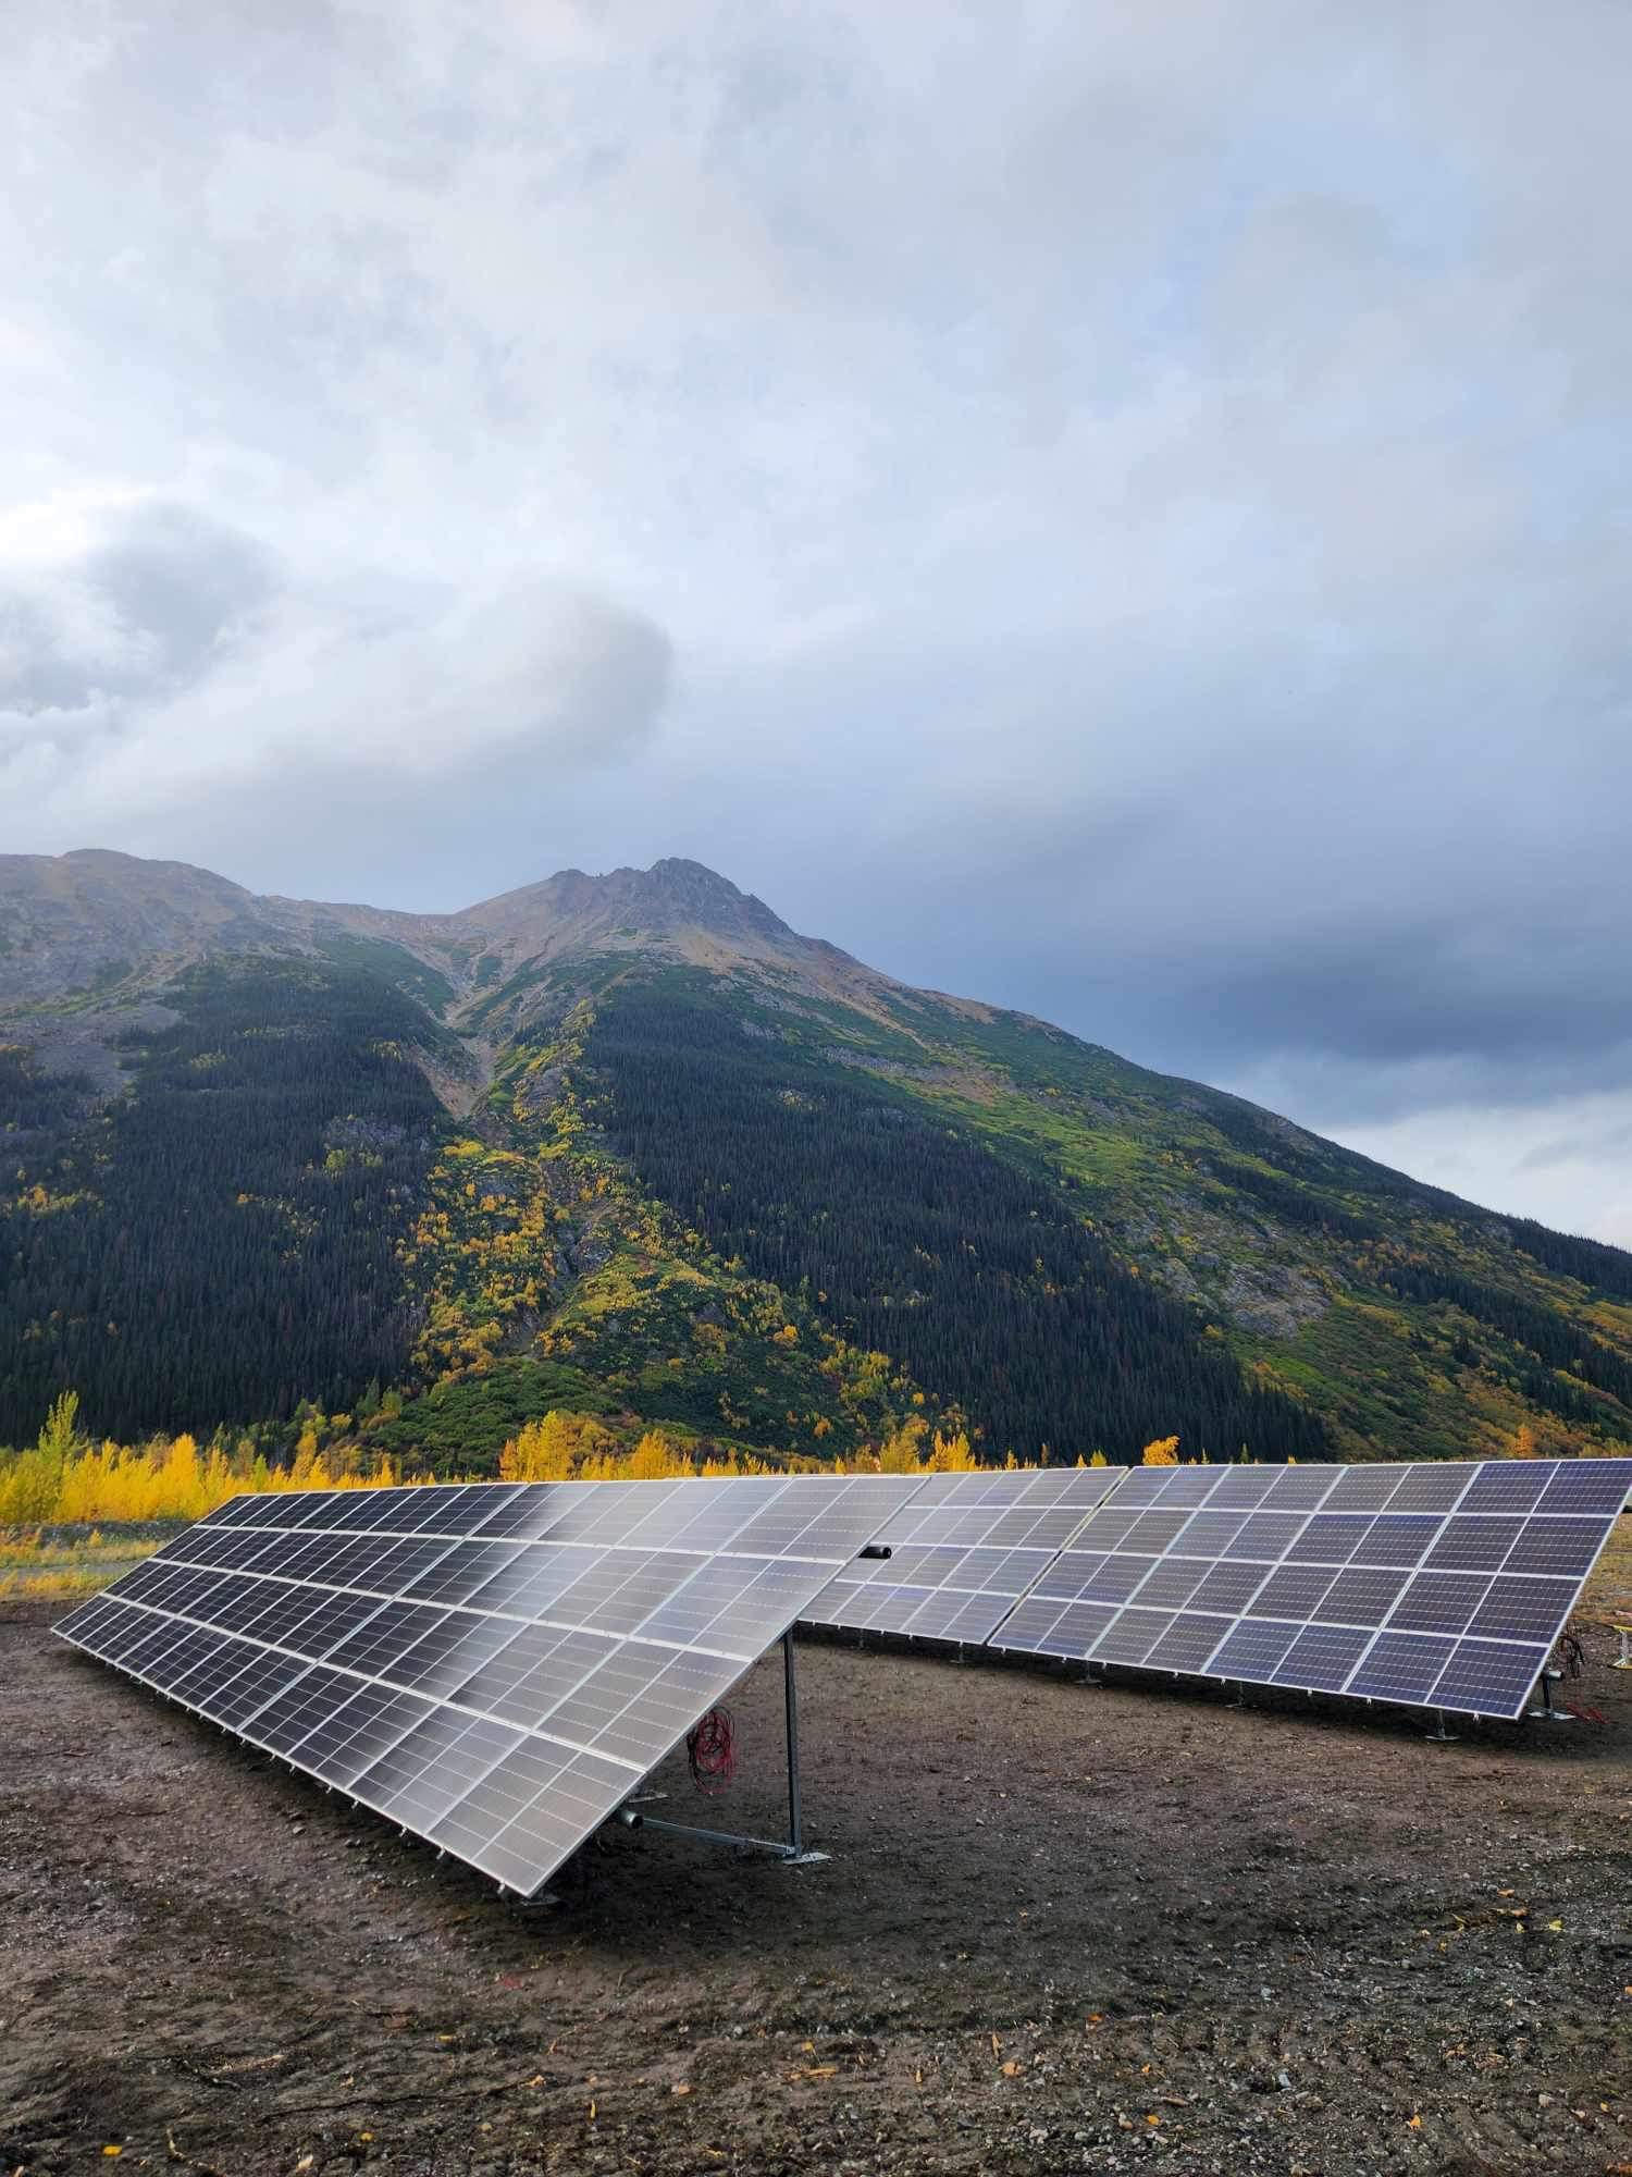
<svg viewBox="0 0 1632 2177"><path fill-rule="evenodd" d="M988 1641L1519 1715L1628 1487L1632 1459L1136 1467Z"/></svg>

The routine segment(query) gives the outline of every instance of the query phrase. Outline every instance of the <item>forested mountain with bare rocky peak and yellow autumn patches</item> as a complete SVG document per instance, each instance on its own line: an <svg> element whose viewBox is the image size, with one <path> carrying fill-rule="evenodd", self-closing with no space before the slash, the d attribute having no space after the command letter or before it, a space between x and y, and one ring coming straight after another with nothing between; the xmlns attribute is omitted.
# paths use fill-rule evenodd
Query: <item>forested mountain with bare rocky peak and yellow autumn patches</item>
<svg viewBox="0 0 1632 2177"><path fill-rule="evenodd" d="M0 858L0 1443L490 1459L546 1406L768 1454L1632 1441L1632 1254L1044 1021L698 862L459 914Z"/></svg>

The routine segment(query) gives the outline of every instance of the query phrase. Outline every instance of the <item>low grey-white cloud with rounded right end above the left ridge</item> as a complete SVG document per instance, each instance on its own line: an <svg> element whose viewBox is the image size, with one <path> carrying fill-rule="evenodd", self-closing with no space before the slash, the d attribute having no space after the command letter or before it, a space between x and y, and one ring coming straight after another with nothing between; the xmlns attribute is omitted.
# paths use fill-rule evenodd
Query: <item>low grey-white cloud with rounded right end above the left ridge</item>
<svg viewBox="0 0 1632 2177"><path fill-rule="evenodd" d="M13 522L0 605L0 792L35 832L252 838L287 808L339 849L339 810L459 812L505 773L527 805L657 729L666 634L577 586L302 588L181 505L67 514Z"/></svg>

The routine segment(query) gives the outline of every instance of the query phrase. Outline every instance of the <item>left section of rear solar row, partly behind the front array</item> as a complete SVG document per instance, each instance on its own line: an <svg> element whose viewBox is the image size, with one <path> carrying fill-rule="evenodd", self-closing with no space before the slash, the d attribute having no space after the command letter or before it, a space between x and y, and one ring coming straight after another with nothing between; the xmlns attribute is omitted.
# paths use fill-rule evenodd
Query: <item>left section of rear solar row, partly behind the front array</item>
<svg viewBox="0 0 1632 2177"><path fill-rule="evenodd" d="M877 1535L883 1561L844 1565L805 1624L986 1641L1071 1541L1123 1467L931 1474Z"/></svg>

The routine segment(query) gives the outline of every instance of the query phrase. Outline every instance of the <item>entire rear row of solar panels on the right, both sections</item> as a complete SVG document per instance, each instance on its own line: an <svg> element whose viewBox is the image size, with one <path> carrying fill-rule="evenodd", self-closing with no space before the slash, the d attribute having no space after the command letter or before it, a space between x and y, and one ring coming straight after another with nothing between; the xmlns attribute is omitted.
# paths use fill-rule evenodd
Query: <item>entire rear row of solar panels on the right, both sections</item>
<svg viewBox="0 0 1632 2177"><path fill-rule="evenodd" d="M1632 1461L942 1476L890 1563L846 1565L807 1618L1517 1715L1628 1483ZM1023 1533L1040 1502L1068 1535Z"/></svg>

